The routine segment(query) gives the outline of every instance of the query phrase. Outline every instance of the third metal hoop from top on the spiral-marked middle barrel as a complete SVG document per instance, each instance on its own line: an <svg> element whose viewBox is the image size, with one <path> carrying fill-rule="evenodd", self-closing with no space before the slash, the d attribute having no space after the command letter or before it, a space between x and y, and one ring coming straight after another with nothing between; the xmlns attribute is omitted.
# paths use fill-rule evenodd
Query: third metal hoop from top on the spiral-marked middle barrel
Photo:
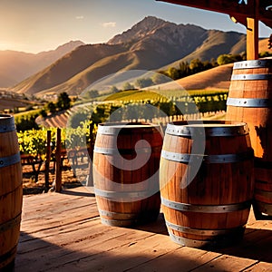
<svg viewBox="0 0 272 272"><path fill-rule="evenodd" d="M127 199L131 201L133 199L146 199L151 196L151 192L148 190L143 191L109 191L109 190L102 190L94 188L94 194L96 196L105 198L105 199L111 199L114 201L118 201L118 199Z"/></svg>

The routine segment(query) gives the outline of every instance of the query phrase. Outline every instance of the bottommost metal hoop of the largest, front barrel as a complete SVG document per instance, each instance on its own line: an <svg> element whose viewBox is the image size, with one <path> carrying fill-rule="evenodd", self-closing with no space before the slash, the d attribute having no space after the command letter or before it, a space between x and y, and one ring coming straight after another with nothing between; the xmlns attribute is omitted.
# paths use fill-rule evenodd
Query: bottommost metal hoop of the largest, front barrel
<svg viewBox="0 0 272 272"><path fill-rule="evenodd" d="M219 235L226 235L229 233L234 233L237 231L241 231L246 226L240 226L238 228L224 228L224 229L199 229L199 228L188 228L182 227L173 223L168 222L165 220L166 226L173 230L180 231L182 233L188 234L195 234L195 235L203 235L203 236L219 236Z"/></svg>

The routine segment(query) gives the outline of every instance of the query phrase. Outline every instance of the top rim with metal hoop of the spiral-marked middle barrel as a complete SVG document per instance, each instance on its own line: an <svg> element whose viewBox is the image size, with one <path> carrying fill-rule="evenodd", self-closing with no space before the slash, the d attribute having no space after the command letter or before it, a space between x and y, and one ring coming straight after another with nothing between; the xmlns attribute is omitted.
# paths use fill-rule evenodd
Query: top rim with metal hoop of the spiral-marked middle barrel
<svg viewBox="0 0 272 272"><path fill-rule="evenodd" d="M133 133L133 131L158 131L161 132L160 124L148 122L104 122L98 125L98 133L117 135L121 131L122 134Z"/></svg>

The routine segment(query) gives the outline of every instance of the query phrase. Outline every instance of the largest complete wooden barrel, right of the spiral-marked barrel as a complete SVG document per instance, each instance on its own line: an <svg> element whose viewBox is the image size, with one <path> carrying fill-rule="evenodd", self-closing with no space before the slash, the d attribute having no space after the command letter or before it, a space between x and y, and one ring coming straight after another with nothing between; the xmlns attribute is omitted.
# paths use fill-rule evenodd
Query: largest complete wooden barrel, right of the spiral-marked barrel
<svg viewBox="0 0 272 272"><path fill-rule="evenodd" d="M203 139L204 154L193 153ZM196 160L199 170L191 175ZM253 180L253 151L245 123L168 124L160 158L160 196L174 242L192 248L224 247L243 238Z"/></svg>

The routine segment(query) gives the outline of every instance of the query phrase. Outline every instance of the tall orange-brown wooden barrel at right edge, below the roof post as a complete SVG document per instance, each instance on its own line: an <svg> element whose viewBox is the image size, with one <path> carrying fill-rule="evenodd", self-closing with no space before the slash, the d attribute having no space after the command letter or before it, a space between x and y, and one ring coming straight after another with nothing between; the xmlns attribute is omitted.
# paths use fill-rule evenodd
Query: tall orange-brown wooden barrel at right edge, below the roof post
<svg viewBox="0 0 272 272"><path fill-rule="evenodd" d="M272 216L272 59L234 63L226 120L248 123L255 154L255 216Z"/></svg>

